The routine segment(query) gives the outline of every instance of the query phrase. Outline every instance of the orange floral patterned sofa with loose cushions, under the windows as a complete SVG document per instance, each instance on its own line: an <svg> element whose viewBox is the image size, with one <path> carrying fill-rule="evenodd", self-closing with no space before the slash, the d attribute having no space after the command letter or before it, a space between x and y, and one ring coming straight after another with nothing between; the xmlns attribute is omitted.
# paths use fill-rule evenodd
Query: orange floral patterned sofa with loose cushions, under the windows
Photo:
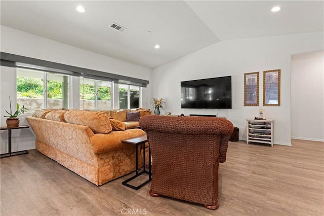
<svg viewBox="0 0 324 216"><path fill-rule="evenodd" d="M149 110L39 110L26 119L36 135L37 151L100 186L135 170L135 147L121 140L145 132L136 128L136 121L128 126L119 121L132 116L128 112L138 117L150 114ZM138 152L141 163L143 151Z"/></svg>

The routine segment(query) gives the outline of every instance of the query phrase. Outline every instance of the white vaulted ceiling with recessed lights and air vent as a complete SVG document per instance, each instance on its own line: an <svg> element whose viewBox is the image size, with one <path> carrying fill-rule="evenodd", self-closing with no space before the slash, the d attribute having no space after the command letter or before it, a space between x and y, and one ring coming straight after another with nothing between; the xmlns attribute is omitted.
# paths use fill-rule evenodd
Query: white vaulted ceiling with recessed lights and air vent
<svg viewBox="0 0 324 216"><path fill-rule="evenodd" d="M323 31L323 1L1 1L1 25L155 68L225 40ZM75 10L85 7L85 13ZM280 6L279 12L271 12ZM127 30L111 28L117 23ZM160 45L159 49L154 46Z"/></svg>

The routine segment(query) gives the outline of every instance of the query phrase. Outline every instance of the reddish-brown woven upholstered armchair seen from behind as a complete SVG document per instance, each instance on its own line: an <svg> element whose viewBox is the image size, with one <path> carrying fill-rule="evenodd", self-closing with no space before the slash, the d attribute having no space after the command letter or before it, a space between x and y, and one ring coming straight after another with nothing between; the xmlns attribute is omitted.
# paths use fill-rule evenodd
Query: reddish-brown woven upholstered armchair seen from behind
<svg viewBox="0 0 324 216"><path fill-rule="evenodd" d="M150 195L218 208L218 165L226 160L233 124L217 117L143 116L152 155Z"/></svg>

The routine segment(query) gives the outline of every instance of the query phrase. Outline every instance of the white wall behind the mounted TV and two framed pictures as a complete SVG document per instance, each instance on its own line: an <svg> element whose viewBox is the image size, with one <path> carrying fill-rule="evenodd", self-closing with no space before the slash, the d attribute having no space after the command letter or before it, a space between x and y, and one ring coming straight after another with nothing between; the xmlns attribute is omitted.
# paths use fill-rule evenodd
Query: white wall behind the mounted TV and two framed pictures
<svg viewBox="0 0 324 216"><path fill-rule="evenodd" d="M261 105L263 71L281 69L280 106L263 106L263 111L265 118L274 119L274 142L291 145L291 55L315 50L323 50L323 32L222 41L153 69L152 95L165 98L164 112L215 115L215 109L181 109L180 82L232 76L232 109L220 110L218 116L230 120L239 128L239 138L246 139L246 119L257 116L259 107L244 106L244 74L260 72Z"/></svg>

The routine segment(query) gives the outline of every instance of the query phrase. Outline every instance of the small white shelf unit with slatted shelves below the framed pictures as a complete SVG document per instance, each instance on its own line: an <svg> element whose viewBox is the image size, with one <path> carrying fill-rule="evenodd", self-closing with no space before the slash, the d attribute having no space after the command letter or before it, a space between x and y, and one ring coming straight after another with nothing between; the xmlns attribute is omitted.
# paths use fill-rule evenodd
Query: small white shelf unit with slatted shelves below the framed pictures
<svg viewBox="0 0 324 216"><path fill-rule="evenodd" d="M247 119L247 143L267 143L273 147L273 119Z"/></svg>

